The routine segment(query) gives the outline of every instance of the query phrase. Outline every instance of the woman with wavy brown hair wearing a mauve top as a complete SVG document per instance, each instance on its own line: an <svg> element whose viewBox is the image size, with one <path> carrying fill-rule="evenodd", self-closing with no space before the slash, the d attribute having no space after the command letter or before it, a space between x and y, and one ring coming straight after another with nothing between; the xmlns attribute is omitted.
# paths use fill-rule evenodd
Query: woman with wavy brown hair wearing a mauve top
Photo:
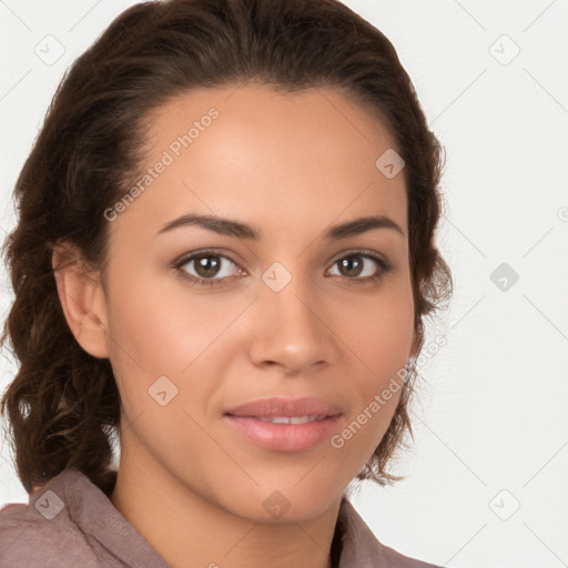
<svg viewBox="0 0 568 568"><path fill-rule="evenodd" d="M349 504L410 433L440 148L335 0L136 4L72 65L6 242L2 566L432 566ZM112 467L113 433L120 464Z"/></svg>

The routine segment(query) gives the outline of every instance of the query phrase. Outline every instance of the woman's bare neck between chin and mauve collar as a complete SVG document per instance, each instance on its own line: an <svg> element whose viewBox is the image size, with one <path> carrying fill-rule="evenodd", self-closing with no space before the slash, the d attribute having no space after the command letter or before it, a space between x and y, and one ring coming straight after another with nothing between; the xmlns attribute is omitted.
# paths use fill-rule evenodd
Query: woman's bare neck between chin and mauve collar
<svg viewBox="0 0 568 568"><path fill-rule="evenodd" d="M122 456L110 499L172 568L332 568L341 499L306 521L261 523L196 495L155 463L132 469Z"/></svg>

